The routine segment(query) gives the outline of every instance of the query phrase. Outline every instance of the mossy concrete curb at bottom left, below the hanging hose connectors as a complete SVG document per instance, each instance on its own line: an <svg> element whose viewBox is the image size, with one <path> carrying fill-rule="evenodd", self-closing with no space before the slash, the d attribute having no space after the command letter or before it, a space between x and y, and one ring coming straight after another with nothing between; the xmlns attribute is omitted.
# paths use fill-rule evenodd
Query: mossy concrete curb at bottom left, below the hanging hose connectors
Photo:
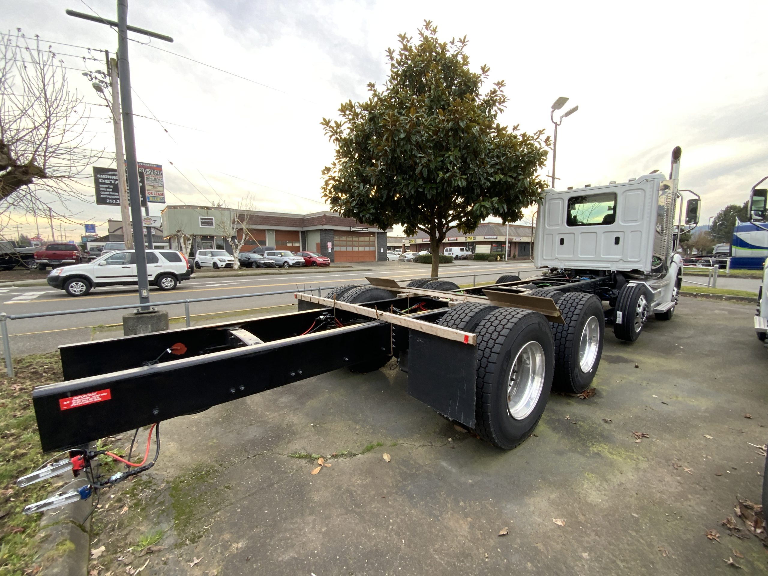
<svg viewBox="0 0 768 576"><path fill-rule="evenodd" d="M91 548L91 498L78 500L58 510L43 513L40 531L41 570L38 576L84 576L88 574Z"/></svg>

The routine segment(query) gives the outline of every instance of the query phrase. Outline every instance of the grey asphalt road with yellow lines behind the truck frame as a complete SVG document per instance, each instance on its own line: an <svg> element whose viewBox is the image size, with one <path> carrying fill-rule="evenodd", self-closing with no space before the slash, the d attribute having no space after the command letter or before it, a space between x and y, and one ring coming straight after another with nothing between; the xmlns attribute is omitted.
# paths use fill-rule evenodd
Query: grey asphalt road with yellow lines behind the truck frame
<svg viewBox="0 0 768 576"><path fill-rule="evenodd" d="M276 273L270 276L222 277L206 276L180 283L176 290L163 292L152 288L151 303L161 304L172 300L191 300L241 294L275 292L280 290L317 289L348 283L365 283L366 276L379 276L394 280L425 278L430 274L429 266L415 263L360 263L355 269L329 273L299 273L286 275ZM441 266L440 277L458 284L494 281L502 273L516 270L531 270L523 277L534 274L532 263L487 263L466 262ZM84 310L103 306L121 306L137 303L137 291L131 286L114 286L93 290L88 296L72 297L63 290L49 286L25 286L0 288L0 312L27 314L63 310ZM253 296L234 300L194 303L190 305L193 325L220 322L223 318L248 317L260 313L290 312L295 306L292 294L275 296ZM279 306L286 306L285 308ZM184 326L184 305L164 306L171 317L171 329ZM65 343L84 342L91 339L113 338L122 335L122 316L127 310L110 310L81 313L68 316L9 320L8 329L12 336L12 356L26 356L56 349Z"/></svg>

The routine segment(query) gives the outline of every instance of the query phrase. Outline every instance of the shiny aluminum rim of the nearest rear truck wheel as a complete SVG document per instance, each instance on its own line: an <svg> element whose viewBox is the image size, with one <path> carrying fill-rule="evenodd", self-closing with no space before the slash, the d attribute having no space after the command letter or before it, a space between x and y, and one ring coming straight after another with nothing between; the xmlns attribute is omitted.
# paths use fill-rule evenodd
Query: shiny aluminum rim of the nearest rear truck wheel
<svg viewBox="0 0 768 576"><path fill-rule="evenodd" d="M533 412L544 388L544 372L544 349L531 340L520 349L509 369L507 410L515 420Z"/></svg>

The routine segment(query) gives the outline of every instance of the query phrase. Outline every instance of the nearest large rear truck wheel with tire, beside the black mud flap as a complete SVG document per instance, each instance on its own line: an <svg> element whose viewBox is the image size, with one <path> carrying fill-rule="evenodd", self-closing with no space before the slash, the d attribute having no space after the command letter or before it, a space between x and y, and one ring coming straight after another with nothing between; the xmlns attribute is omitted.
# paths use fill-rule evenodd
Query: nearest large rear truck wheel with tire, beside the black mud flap
<svg viewBox="0 0 768 576"><path fill-rule="evenodd" d="M541 313L502 308L486 315L476 333L475 432L492 445L511 450L528 439L547 406L554 372L551 329ZM513 369L515 382L511 382ZM525 383L526 372L534 376L533 386L522 395L528 402L521 407L515 403L515 386ZM513 416L510 408L518 414Z"/></svg>

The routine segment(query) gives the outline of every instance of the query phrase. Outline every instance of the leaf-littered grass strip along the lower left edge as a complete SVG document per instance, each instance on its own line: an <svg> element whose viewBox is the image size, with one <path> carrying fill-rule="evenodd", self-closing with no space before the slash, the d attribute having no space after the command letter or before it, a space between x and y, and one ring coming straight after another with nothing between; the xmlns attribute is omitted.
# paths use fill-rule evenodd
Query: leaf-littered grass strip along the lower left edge
<svg viewBox="0 0 768 576"><path fill-rule="evenodd" d="M19 476L32 472L46 459L40 451L32 389L64 378L55 352L14 359L14 364L16 377L0 378L0 514L4 515L0 520L0 574L23 574L40 564L35 535L41 515L28 516L22 509L48 498L51 482L38 482L26 488L17 488L15 483Z"/></svg>

